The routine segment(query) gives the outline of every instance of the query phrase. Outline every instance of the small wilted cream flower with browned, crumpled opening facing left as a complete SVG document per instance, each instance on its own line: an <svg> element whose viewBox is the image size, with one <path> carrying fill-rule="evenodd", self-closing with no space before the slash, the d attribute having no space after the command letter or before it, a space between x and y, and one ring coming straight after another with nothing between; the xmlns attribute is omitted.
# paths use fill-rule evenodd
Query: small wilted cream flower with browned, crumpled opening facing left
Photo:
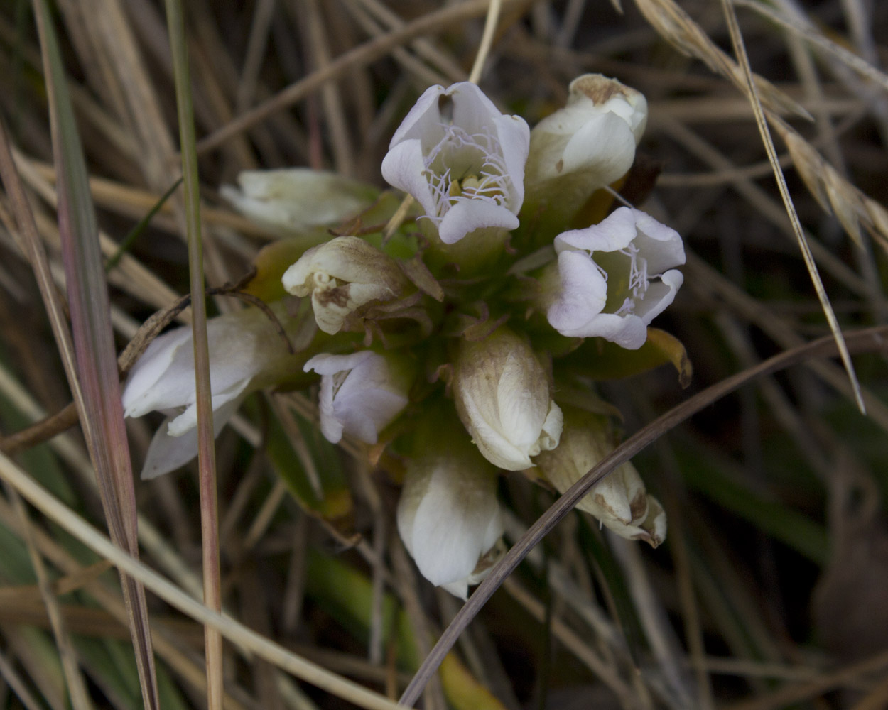
<svg viewBox="0 0 888 710"><path fill-rule="evenodd" d="M312 296L314 319L338 333L353 312L372 301L400 296L407 278L391 256L358 237L336 237L307 249L283 274L293 296Z"/></svg>

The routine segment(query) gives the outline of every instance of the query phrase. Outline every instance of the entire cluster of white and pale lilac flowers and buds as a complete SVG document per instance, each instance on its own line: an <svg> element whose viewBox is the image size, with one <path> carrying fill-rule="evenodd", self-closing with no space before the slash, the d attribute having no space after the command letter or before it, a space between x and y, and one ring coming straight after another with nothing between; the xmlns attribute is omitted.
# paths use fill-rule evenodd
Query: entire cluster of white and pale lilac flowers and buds
<svg viewBox="0 0 888 710"><path fill-rule="evenodd" d="M320 377L323 436L362 442L372 461L402 473L405 547L428 580L464 598L503 549L499 472L527 471L564 492L607 455L607 419L577 407L591 398L567 396L590 386L576 363L599 357L602 340L644 348L682 284L674 230L630 207L596 224L585 217L591 198L600 203L630 170L646 110L638 91L600 75L571 83L567 106L533 130L472 83L425 91L382 162L385 180L418 208L385 239L363 229L314 242L277 281L313 320L297 355L258 312L212 321L219 423L249 391L280 383L281 367ZM326 174L308 185L304 171L293 179L277 172L266 185L253 174L243 195L228 196L293 226L312 223L274 195L307 192L341 224L368 224L337 211L353 185ZM292 329L296 320L276 312ZM158 439L170 450L194 428L189 338L155 341L123 395L131 416L175 410ZM178 465L185 449L183 439L149 472ZM665 537L663 509L630 463L578 507L622 537L654 547Z"/></svg>

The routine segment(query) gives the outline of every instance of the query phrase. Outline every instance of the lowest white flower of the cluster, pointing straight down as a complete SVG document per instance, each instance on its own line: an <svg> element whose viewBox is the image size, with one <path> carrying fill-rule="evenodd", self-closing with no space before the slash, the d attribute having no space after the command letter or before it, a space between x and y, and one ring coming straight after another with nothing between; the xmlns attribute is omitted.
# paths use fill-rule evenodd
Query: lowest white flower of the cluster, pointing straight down
<svg viewBox="0 0 888 710"><path fill-rule="evenodd" d="M398 533L425 579L465 599L502 551L496 469L467 442L429 449L408 462Z"/></svg>

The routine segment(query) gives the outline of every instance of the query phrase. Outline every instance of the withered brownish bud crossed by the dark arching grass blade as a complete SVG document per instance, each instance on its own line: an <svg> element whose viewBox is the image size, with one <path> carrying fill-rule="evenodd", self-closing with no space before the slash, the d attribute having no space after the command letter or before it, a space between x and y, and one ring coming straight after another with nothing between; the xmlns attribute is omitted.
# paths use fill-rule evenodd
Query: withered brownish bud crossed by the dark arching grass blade
<svg viewBox="0 0 888 710"><path fill-rule="evenodd" d="M536 458L543 477L560 493L614 449L603 417L573 408L566 408L564 416L558 448ZM666 514L659 501L646 493L644 482L629 461L593 485L576 507L627 540L644 540L655 548L666 539Z"/></svg>

